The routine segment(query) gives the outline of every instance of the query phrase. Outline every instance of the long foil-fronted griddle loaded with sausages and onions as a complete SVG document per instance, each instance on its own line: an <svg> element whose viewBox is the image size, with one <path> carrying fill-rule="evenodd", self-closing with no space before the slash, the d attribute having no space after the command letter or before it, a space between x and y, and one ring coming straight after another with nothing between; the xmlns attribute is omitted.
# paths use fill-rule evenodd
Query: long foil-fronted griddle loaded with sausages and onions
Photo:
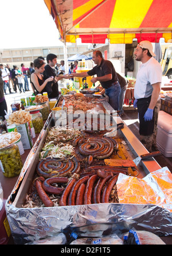
<svg viewBox="0 0 172 256"><path fill-rule="evenodd" d="M125 192L120 189L119 196L116 193L118 185L114 187L115 183L111 183L113 187L110 189L111 196L110 193L104 192L104 201L96 201L100 200L100 197L95 198L95 201L91 200L95 185L104 179L110 179L106 176L107 173L116 181L116 178L120 177L119 187L120 184L124 184L124 177L136 179L139 183L142 181L144 186L146 183L147 187L151 187L151 183L154 186L155 181L150 174L153 173L151 175L156 177L156 172L159 173L161 166L153 157L142 160L136 166L133 160L148 152L103 96L60 96L56 103L57 109L62 105L63 99L68 109L66 116L68 125L74 122L75 125L80 123L80 127L87 125L88 127L86 130L54 127L57 120L54 120L50 113L6 203L7 219L14 242L17 244L39 243L40 239L51 240L59 235L61 237L62 234L65 236L65 243L68 244L70 235L74 231L79 237L104 237L107 232L122 236L133 227L154 232L158 236L170 235L171 214L167 206L163 205L164 196L161 195L161 191L152 191L151 188L150 199L150 194L147 193L146 200L151 202L154 199L152 203L146 203L143 198L145 191L142 191L144 196L140 194L139 201L135 199L135 203L134 201L131 203L130 200L126 201L130 196L122 199ZM101 122L97 122L98 129L93 129L95 123L89 123L90 119L85 120L85 115L84 119L79 119L77 112L79 110L81 110L80 114L88 111L89 114L96 116L99 111L101 114L103 111L106 117L110 117L110 122L106 129L100 129ZM113 130L115 130L115 133L112 133L113 137L108 137L107 133ZM56 164L53 162L54 158L56 158ZM166 169L161 171L162 176L168 173ZM148 177L148 181L143 180L145 177ZM58 184L58 187L52 186L51 179L54 179L53 183ZM62 186L59 185L60 179ZM93 179L95 179L94 182ZM81 180L85 180L85 183L81 183ZM66 193L72 182L73 186L84 184L87 187L88 181L92 183L92 193L88 189L83 203L77 198L79 187L77 188L78 196L76 193L71 193L71 199L69 195L67 197ZM46 187L44 189L42 189L43 183ZM56 190L63 192L53 194L49 189L53 189L53 192ZM107 195L110 196L109 199ZM72 203L73 200L74 203Z"/></svg>

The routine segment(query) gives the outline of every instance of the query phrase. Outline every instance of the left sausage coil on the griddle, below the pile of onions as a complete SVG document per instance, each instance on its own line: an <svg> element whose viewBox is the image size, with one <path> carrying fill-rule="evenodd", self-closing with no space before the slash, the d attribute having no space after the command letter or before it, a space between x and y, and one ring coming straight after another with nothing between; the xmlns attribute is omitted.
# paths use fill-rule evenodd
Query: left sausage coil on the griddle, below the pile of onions
<svg viewBox="0 0 172 256"><path fill-rule="evenodd" d="M37 174L48 179L53 176L65 177L68 174L78 173L80 163L76 157L69 159L67 162L58 161L56 158L46 158L38 162Z"/></svg>

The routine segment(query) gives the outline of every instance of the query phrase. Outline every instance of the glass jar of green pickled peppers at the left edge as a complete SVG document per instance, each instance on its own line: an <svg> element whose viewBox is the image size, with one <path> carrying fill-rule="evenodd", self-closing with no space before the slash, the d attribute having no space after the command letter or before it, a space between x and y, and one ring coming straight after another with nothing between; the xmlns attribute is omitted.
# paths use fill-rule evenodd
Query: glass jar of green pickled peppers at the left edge
<svg viewBox="0 0 172 256"><path fill-rule="evenodd" d="M16 144L0 149L0 169L5 177L14 177L19 175L23 163Z"/></svg>

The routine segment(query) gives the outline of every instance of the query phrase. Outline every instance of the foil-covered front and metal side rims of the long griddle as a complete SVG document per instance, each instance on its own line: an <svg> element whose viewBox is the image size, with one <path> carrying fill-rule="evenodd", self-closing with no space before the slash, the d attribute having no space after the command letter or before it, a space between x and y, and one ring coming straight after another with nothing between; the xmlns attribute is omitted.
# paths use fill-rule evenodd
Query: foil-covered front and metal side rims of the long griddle
<svg viewBox="0 0 172 256"><path fill-rule="evenodd" d="M60 100L61 97L58 99L56 106L60 104ZM111 109L107 101L103 102L103 104L108 110ZM116 117L116 114L113 118L117 118L118 123L123 122L120 117ZM52 237L59 232L71 234L73 230L85 236L101 236L107 230L109 230L108 234L111 234L111 232L119 234L138 225L146 227L144 230L155 234L169 235L169 232L172 234L171 229L169 231L169 226L172 223L169 212L156 205L108 203L49 208L22 208L25 195L33 182L39 154L48 134L48 129L52 125L53 120L52 115L50 115L26 159L24 170L21 172L17 184L6 202L7 219L9 220L11 234L15 243L24 244ZM128 141L134 157L147 153L142 143L132 134L125 123L120 133ZM143 161L143 169L147 174L161 169L161 166L152 158L146 163ZM163 226L161 227L162 223Z"/></svg>

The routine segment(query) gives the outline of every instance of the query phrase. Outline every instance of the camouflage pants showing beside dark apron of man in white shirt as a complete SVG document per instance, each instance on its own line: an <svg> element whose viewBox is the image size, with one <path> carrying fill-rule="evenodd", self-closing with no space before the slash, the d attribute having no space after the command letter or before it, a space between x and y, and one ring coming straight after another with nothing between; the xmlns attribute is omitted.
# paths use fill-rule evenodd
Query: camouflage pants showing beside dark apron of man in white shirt
<svg viewBox="0 0 172 256"><path fill-rule="evenodd" d="M143 146L148 150L148 152L157 151L157 124L158 124L158 114L161 107L161 99L157 101L155 105L155 122L154 122L154 132L153 134L144 136L140 135L140 141L142 142Z"/></svg>

